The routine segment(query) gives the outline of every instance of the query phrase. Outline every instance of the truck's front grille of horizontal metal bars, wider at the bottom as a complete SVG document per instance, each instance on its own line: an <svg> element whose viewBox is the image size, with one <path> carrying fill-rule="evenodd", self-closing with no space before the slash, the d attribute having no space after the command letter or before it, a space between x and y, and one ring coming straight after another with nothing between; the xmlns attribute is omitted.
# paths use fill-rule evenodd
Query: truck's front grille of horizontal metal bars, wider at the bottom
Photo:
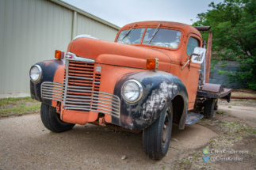
<svg viewBox="0 0 256 170"><path fill-rule="evenodd" d="M120 117L120 99L111 93L100 92L101 74L95 64L66 60L63 84L45 81L41 85L44 99L63 102L66 110L97 111Z"/></svg>

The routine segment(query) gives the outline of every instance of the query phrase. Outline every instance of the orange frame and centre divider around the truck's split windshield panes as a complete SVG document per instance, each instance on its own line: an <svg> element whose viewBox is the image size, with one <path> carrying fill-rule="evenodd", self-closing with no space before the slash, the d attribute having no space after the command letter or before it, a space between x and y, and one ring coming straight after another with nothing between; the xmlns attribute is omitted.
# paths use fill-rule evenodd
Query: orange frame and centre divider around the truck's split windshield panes
<svg viewBox="0 0 256 170"><path fill-rule="evenodd" d="M180 40L180 43L178 44L178 47L176 48L170 48L170 47L159 47L159 46L155 46L155 45L150 45L150 44L143 44L143 39L144 39L144 36L147 32L147 28L157 28L158 25L154 25L154 26L151 26L151 25L141 25L141 26L136 26L136 28L145 28L144 32L143 32L143 37L142 39L140 40L140 43L139 44L127 44L127 45L132 45L132 46L141 46L141 47L150 47L150 48L159 48L159 49L164 49L164 50L168 50L168 51L177 51L181 45L184 43L183 42L183 39L184 39L184 31L181 29L181 28L174 28L174 27L165 27L165 26L162 26L160 25L159 26L159 29L170 29L170 30L174 30L174 31L179 31L181 32L181 40ZM116 36L116 40L115 40L115 43L117 43L117 40L118 40L118 37L120 36L120 32L124 31L124 30L129 30L131 29L132 27L129 27L129 28L122 28L119 30L119 32L117 32L117 36ZM123 43L124 44L124 43Z"/></svg>

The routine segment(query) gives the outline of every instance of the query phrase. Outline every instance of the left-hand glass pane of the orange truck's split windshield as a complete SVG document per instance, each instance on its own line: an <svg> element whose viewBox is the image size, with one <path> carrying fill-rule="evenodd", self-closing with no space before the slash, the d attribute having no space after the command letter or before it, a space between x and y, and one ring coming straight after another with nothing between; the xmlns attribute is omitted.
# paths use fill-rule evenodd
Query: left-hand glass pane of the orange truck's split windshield
<svg viewBox="0 0 256 170"><path fill-rule="evenodd" d="M128 36L125 36L125 34L129 31L129 29L121 31L120 35L118 36L117 43L139 44L143 37L144 30L145 28L132 29L131 32L128 33Z"/></svg>

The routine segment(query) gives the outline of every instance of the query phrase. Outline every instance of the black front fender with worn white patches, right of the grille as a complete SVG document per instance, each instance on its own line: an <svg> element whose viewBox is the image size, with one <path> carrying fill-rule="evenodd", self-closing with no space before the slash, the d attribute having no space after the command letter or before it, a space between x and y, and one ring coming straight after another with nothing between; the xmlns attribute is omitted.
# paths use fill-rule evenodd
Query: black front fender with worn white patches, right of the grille
<svg viewBox="0 0 256 170"><path fill-rule="evenodd" d="M128 104L121 95L122 85L130 79L136 79L143 85L142 99L136 104ZM188 93L181 79L173 74L150 70L124 74L117 80L114 94L120 96L120 119L112 117L113 124L131 130L143 130L151 126L166 104L179 95L184 102L179 129L185 127Z"/></svg>

